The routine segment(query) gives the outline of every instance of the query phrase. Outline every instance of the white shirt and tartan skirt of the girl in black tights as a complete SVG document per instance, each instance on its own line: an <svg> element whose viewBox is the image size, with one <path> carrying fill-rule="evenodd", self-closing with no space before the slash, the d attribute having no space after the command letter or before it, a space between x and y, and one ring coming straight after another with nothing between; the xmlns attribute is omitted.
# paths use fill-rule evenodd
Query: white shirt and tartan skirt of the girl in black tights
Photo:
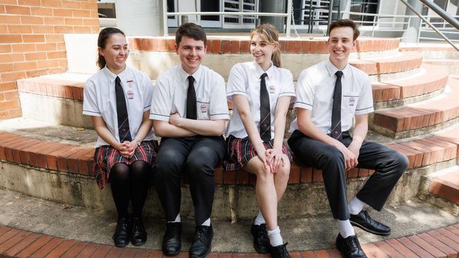
<svg viewBox="0 0 459 258"><path fill-rule="evenodd" d="M119 125L117 120L117 98L115 80L121 81L121 87L126 100L131 139L136 137L141 127L143 112L150 110L153 85L144 73L126 66L123 72L115 75L107 66L99 70L85 82L83 98L83 114L99 116L105 121L107 129L119 140ZM97 136L94 154L93 173L99 188L104 188L109 181L110 169L114 164L126 165L142 160L153 166L156 156L157 141L154 131L150 131L141 145L136 148L134 155L126 159L119 152Z"/></svg>

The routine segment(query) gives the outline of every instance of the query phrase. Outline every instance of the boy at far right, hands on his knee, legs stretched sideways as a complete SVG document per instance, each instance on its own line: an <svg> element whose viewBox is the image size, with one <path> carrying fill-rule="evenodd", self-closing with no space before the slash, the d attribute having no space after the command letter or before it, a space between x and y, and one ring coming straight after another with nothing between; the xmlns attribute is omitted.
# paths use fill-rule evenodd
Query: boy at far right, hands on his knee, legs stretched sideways
<svg viewBox="0 0 459 258"><path fill-rule="evenodd" d="M381 211L408 165L404 154L364 140L368 113L374 109L369 76L348 63L358 36L352 20L330 25L329 59L299 75L294 104L297 119L288 140L300 164L322 170L328 202L338 220L336 245L344 257L366 257L352 225L377 235L391 233L391 228L371 219L362 208L368 204ZM348 204L345 172L354 167L375 173Z"/></svg>

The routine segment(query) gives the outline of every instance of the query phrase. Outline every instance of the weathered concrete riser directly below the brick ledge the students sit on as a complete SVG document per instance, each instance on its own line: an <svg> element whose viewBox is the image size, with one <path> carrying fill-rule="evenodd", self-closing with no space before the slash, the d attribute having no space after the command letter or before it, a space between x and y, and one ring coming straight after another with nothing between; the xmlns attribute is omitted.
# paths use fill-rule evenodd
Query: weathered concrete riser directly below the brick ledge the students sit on
<svg viewBox="0 0 459 258"><path fill-rule="evenodd" d="M115 211L110 190L99 190L92 177L55 173L55 171L19 166L5 161L1 161L0 172L0 187L2 188L53 202L90 207L99 211ZM419 173L418 171L405 173L395 187L388 204L415 197L419 178L423 174L424 172ZM348 179L349 198L354 197L363 184L364 178ZM181 214L192 216L193 207L189 185L182 185L181 192ZM216 186L213 205L214 218L251 219L257 211L253 186L220 184ZM280 218L328 213L330 208L323 183L289 185L279 204L278 211ZM163 216L153 186L150 187L144 212L146 216Z"/></svg>

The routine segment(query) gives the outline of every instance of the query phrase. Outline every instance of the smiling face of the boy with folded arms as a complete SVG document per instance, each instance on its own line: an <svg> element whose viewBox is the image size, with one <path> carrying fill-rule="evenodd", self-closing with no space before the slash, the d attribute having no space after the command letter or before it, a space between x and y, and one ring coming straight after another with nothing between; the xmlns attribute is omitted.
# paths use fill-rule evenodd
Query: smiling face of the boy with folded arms
<svg viewBox="0 0 459 258"><path fill-rule="evenodd" d="M207 46L204 46L202 40L182 36L179 46L175 46L175 51L179 55L181 68L189 75L192 75L201 66L207 52Z"/></svg>

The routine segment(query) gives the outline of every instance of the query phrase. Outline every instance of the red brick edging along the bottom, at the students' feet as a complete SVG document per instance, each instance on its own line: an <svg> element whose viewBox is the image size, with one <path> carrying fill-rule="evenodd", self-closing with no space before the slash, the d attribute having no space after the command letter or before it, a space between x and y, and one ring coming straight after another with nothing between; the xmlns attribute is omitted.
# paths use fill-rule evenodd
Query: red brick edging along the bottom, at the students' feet
<svg viewBox="0 0 459 258"><path fill-rule="evenodd" d="M459 223L424 233L393 238L362 245L369 257L458 257ZM142 248L118 248L92 242L67 240L51 235L32 233L7 226L0 226L1 257L149 257L161 258L160 250ZM294 258L330 257L341 254L336 249L290 251ZM177 255L189 257L188 252ZM210 253L208 258L268 258L269 254L257 253Z"/></svg>

